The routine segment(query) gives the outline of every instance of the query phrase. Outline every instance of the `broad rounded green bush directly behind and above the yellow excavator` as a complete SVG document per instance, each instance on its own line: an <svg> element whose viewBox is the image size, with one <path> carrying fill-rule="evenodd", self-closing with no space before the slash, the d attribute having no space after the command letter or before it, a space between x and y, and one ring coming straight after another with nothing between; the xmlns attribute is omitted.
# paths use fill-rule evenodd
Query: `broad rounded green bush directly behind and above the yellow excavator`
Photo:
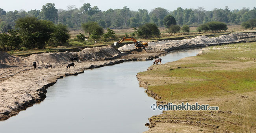
<svg viewBox="0 0 256 133"><path fill-rule="evenodd" d="M140 26L136 33L138 36L147 39L152 36L158 37L160 35L160 30L158 29L156 24L147 23Z"/></svg>

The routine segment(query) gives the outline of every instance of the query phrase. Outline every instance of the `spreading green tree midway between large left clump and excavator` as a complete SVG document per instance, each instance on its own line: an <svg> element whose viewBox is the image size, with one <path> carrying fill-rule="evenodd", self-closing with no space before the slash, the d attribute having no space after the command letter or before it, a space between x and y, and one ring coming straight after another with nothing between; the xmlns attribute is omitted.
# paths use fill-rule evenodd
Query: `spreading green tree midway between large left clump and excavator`
<svg viewBox="0 0 256 133"><path fill-rule="evenodd" d="M103 34L103 28L98 25L96 22L87 22L82 24L82 29L85 31L85 33L89 33L88 39L90 35L93 33L96 35L96 38Z"/></svg>

